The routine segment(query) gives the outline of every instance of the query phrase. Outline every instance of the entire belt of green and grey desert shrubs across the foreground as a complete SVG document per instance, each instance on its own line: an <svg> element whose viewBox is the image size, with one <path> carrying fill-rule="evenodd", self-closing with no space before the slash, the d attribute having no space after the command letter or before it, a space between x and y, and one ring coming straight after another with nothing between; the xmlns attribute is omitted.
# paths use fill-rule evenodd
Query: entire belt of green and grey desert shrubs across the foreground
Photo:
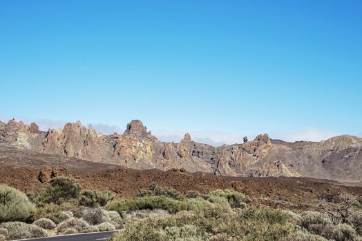
<svg viewBox="0 0 362 241"><path fill-rule="evenodd" d="M109 240L362 240L361 199L321 196L317 203L280 209L230 189L180 193L157 183L115 199L59 176L37 194L0 185L0 240L116 229L122 232Z"/></svg>

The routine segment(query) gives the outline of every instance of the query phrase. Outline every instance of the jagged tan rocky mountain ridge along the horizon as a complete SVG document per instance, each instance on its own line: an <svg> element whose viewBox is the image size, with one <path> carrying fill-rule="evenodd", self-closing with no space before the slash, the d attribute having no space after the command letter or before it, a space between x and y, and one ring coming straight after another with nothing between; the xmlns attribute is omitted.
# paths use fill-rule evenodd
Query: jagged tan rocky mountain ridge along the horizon
<svg viewBox="0 0 362 241"><path fill-rule="evenodd" d="M362 181L362 139L336 136L321 142L287 143L267 134L243 144L196 143L187 133L180 143L164 143L131 121L124 134L104 135L92 126L68 123L40 132L37 124L14 119L0 123L0 143L44 154L111 163L135 169L186 169L222 176L305 176ZM0 145L0 152L1 152Z"/></svg>

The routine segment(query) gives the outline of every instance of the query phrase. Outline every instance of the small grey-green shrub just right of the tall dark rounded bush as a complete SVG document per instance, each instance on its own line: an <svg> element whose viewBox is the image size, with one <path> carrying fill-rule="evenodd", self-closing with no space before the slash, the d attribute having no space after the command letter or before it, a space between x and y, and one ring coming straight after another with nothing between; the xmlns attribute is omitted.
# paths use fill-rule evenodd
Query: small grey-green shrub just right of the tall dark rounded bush
<svg viewBox="0 0 362 241"><path fill-rule="evenodd" d="M86 207L104 207L115 198L111 191L90 191L84 190L80 193L79 204Z"/></svg>

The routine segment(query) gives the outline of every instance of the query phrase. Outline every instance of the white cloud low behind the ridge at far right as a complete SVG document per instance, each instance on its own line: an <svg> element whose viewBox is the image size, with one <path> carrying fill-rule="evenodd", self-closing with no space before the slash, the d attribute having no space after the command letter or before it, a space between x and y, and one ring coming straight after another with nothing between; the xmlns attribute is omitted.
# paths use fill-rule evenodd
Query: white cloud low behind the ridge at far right
<svg viewBox="0 0 362 241"><path fill-rule="evenodd" d="M272 134L272 138L294 142L298 140L321 141L327 140L333 136L339 136L338 132L332 130L321 130L316 128L305 128L298 132L276 132Z"/></svg>

